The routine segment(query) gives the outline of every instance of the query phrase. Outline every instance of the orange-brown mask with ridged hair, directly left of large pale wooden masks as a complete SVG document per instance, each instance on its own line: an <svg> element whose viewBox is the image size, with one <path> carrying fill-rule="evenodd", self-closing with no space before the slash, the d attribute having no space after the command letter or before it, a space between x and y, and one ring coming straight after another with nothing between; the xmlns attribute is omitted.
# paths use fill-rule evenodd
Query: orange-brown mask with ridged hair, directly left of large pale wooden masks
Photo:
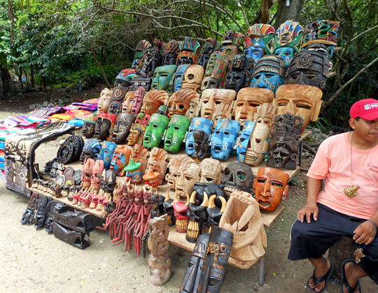
<svg viewBox="0 0 378 293"><path fill-rule="evenodd" d="M194 90L179 90L174 92L168 101L169 119L173 115L185 115L186 111L190 108L190 101L193 99L199 99L199 94Z"/></svg>

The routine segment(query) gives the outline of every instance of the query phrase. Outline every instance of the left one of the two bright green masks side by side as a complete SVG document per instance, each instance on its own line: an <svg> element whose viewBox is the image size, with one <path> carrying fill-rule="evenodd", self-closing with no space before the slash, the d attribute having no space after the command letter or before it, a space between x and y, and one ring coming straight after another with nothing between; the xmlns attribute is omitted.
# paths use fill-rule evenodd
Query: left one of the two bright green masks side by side
<svg viewBox="0 0 378 293"><path fill-rule="evenodd" d="M169 118L161 114L151 115L148 122L146 132L143 138L143 146L145 148L155 148L160 145L165 129L167 129Z"/></svg>

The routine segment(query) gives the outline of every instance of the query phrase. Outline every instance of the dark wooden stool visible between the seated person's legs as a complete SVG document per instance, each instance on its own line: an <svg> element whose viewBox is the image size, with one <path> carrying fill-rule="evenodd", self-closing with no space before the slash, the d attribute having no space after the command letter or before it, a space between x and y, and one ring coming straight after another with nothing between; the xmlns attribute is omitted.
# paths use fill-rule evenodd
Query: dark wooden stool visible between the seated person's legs
<svg viewBox="0 0 378 293"><path fill-rule="evenodd" d="M334 269L331 280L334 283L341 283L340 266L345 259L354 259L354 250L356 250L356 243L352 238L342 236L339 241L330 247L328 250L328 259L333 263Z"/></svg>

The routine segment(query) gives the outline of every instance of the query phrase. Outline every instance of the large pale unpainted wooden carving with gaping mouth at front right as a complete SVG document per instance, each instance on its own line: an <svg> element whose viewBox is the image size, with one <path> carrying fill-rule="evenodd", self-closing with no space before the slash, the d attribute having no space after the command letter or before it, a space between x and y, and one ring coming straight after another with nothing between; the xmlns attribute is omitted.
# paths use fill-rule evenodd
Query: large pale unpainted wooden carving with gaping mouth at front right
<svg viewBox="0 0 378 293"><path fill-rule="evenodd" d="M234 234L231 257L244 262L257 262L265 255L265 234L258 202L247 192L232 192L219 227Z"/></svg>

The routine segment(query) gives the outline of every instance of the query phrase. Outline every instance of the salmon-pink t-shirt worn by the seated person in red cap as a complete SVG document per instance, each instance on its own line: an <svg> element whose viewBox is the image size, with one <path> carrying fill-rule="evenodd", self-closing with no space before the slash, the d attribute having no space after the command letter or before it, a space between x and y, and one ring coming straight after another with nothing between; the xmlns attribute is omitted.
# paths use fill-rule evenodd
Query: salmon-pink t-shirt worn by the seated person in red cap
<svg viewBox="0 0 378 293"><path fill-rule="evenodd" d="M317 202L332 210L360 219L369 219L378 210L378 145L370 151L358 150L351 148L348 133L331 136L319 146L307 176L325 179ZM360 189L357 196L349 198L344 188L351 185L359 185Z"/></svg>

